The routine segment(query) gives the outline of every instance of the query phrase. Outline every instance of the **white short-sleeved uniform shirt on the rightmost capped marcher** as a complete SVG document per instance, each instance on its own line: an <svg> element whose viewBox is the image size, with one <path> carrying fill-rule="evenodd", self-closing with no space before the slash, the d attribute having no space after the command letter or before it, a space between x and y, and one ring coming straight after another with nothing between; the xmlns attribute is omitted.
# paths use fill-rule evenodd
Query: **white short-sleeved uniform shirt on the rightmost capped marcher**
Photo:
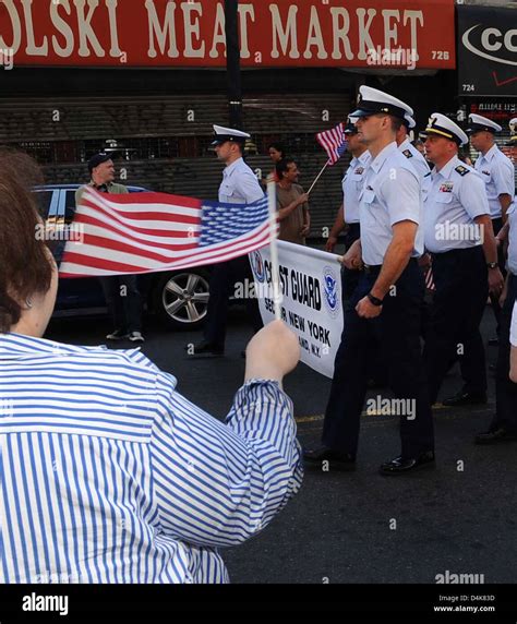
<svg viewBox="0 0 517 624"><path fill-rule="evenodd" d="M474 168L481 173L486 187L490 215L493 219L500 218L502 216L500 195L508 194L513 199L515 194L514 165L497 145L493 145L486 154L480 154Z"/></svg>

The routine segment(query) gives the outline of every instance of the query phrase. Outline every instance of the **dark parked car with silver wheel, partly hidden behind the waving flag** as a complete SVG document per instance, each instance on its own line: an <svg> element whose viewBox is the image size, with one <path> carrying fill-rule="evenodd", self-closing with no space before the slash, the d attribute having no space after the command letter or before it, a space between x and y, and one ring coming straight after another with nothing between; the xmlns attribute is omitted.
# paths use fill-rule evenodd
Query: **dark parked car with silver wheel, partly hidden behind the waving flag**
<svg viewBox="0 0 517 624"><path fill-rule="evenodd" d="M47 184L35 187L37 204L46 221L69 225L75 212L75 191L81 184ZM147 189L128 187L130 193ZM61 262L64 243L53 247L56 261ZM153 273L139 277L147 312L157 314L170 327L193 329L203 323L208 305L208 271L188 268ZM99 279L83 277L60 279L55 317L106 314L107 308Z"/></svg>

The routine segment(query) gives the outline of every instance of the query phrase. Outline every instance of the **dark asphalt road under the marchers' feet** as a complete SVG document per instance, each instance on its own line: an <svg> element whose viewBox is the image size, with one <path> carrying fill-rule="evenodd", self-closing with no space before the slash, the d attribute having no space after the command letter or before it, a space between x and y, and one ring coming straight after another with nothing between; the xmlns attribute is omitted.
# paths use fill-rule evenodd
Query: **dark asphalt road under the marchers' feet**
<svg viewBox="0 0 517 624"><path fill-rule="evenodd" d="M152 317L143 350L178 377L183 395L224 418L243 379L240 352L251 337L243 316L232 311L224 358L189 358L183 346L197 341L200 333L166 331ZM47 337L96 345L108 329L106 319L59 320ZM493 332L488 309L483 335ZM489 362L496 351L486 348ZM308 469L300 493L263 532L224 551L232 581L435 583L436 575L448 571L483 575L484 583L515 583L517 444L472 444L494 410L491 373L489 384L486 406L435 410L435 470L399 478L377 475L382 461L398 455L397 417L363 416L357 471ZM441 396L459 385L454 369ZM294 403L301 443L317 443L329 380L300 364L285 389Z"/></svg>

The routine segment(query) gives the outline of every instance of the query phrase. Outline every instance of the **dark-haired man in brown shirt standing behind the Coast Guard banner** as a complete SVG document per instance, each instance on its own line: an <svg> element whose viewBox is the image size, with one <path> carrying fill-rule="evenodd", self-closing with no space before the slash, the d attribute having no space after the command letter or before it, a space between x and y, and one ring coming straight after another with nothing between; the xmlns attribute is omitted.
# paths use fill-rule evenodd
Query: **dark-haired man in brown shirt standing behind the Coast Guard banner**
<svg viewBox="0 0 517 624"><path fill-rule="evenodd" d="M291 158L278 160L275 167L276 201L280 221L279 240L305 244L305 237L311 231L309 213L309 195L298 183L300 171Z"/></svg>

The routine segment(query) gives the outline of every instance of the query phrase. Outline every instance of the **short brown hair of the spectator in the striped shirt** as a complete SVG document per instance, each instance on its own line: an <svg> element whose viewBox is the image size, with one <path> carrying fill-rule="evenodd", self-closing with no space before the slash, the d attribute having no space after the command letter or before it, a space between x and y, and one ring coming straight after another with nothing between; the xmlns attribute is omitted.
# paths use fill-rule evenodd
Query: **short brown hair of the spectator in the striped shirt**
<svg viewBox="0 0 517 624"><path fill-rule="evenodd" d="M31 185L43 180L27 155L0 147L0 333L22 315L19 300L50 288L49 250L36 237L41 224ZM45 238L45 237L43 237Z"/></svg>

